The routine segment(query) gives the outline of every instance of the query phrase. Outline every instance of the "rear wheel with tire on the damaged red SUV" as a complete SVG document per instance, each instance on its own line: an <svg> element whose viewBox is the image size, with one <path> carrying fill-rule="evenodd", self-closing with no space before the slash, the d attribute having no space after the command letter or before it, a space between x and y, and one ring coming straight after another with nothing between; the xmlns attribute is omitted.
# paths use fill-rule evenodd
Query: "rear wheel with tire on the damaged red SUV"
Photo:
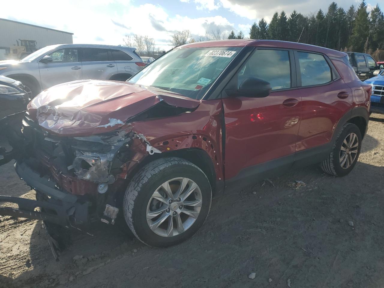
<svg viewBox="0 0 384 288"><path fill-rule="evenodd" d="M349 138L350 136L356 137L357 139ZM350 149L351 152L349 154L351 155L351 157L349 157L348 155L345 156L345 154L347 154L347 152L344 152L346 151L345 147L349 147L347 144L350 141L352 141L352 139L355 139L355 140L351 144L351 146L356 146L356 145L357 146ZM344 140L346 141L345 143L344 143ZM356 144L356 140L358 141L357 144ZM321 163L321 169L323 169L324 172L334 176L345 176L349 174L349 172L352 171L353 167L358 162L360 150L361 150L361 140L362 140L361 132L358 126L352 123L344 124L338 136L336 137L336 141L333 144L333 147L332 147L331 153L328 156L328 159L326 159ZM342 151L342 147L343 147L343 151ZM349 148L347 150L349 151ZM354 156L354 154L356 154L356 156ZM341 159L342 157L343 159ZM351 161L350 159L353 159L353 161ZM344 160L345 162L343 162Z"/></svg>

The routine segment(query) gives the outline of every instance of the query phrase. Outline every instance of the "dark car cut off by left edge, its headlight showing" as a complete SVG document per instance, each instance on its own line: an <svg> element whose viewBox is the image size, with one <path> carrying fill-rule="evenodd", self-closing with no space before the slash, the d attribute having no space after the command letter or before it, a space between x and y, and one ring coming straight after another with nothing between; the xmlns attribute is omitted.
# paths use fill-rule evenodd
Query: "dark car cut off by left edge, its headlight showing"
<svg viewBox="0 0 384 288"><path fill-rule="evenodd" d="M0 75L0 119L26 110L31 91L20 81Z"/></svg>

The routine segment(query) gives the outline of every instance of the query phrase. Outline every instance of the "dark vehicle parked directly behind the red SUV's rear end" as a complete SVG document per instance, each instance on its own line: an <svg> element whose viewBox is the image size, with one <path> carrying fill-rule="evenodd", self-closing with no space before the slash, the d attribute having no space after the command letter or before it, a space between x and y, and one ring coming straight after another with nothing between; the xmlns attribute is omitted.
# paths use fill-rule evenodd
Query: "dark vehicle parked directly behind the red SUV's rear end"
<svg viewBox="0 0 384 288"><path fill-rule="evenodd" d="M362 81L371 78L373 71L378 69L378 65L371 55L357 52L346 53L349 56L349 63Z"/></svg>

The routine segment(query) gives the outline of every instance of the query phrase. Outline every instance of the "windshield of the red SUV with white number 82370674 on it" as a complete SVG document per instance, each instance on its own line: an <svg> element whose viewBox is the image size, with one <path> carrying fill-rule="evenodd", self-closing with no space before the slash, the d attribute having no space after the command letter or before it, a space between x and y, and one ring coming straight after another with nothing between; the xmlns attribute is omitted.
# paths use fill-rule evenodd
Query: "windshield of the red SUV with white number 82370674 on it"
<svg viewBox="0 0 384 288"><path fill-rule="evenodd" d="M129 82L201 99L241 49L175 48L139 71Z"/></svg>

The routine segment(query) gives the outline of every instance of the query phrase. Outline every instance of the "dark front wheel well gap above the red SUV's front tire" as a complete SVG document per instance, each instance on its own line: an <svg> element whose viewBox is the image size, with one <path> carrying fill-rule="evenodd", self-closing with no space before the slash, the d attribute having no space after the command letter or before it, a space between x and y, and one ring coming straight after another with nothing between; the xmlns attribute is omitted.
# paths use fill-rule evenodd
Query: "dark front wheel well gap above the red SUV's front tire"
<svg viewBox="0 0 384 288"><path fill-rule="evenodd" d="M211 158L209 157L208 153L202 149L186 148L186 149L169 151L161 154L155 153L153 155L148 155L147 157L144 158L144 160L139 165L137 165L137 167L135 167L134 170L132 170L131 173L129 173L131 174L129 175L129 178L132 178L134 174L136 174L142 167L144 167L149 162L152 162L156 159L164 158L164 157L179 157L191 162L192 164L195 164L207 176L209 183L212 187L212 193L214 193L216 188L215 166Z"/></svg>

